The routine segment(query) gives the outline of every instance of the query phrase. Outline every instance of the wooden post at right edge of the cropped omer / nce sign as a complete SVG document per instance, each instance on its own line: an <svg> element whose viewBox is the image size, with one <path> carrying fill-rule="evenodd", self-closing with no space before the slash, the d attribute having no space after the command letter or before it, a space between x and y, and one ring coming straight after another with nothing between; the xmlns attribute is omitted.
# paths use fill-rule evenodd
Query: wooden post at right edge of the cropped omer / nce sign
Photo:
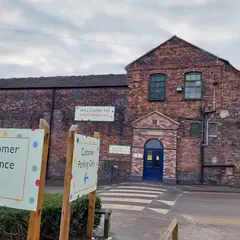
<svg viewBox="0 0 240 240"><path fill-rule="evenodd" d="M40 173L40 185L38 190L37 211L30 212L28 224L28 240L39 240L41 230L42 204L44 198L44 186L46 177L47 157L49 148L50 127L46 120L40 119L39 128L44 129L44 143L42 154L42 166Z"/></svg>

